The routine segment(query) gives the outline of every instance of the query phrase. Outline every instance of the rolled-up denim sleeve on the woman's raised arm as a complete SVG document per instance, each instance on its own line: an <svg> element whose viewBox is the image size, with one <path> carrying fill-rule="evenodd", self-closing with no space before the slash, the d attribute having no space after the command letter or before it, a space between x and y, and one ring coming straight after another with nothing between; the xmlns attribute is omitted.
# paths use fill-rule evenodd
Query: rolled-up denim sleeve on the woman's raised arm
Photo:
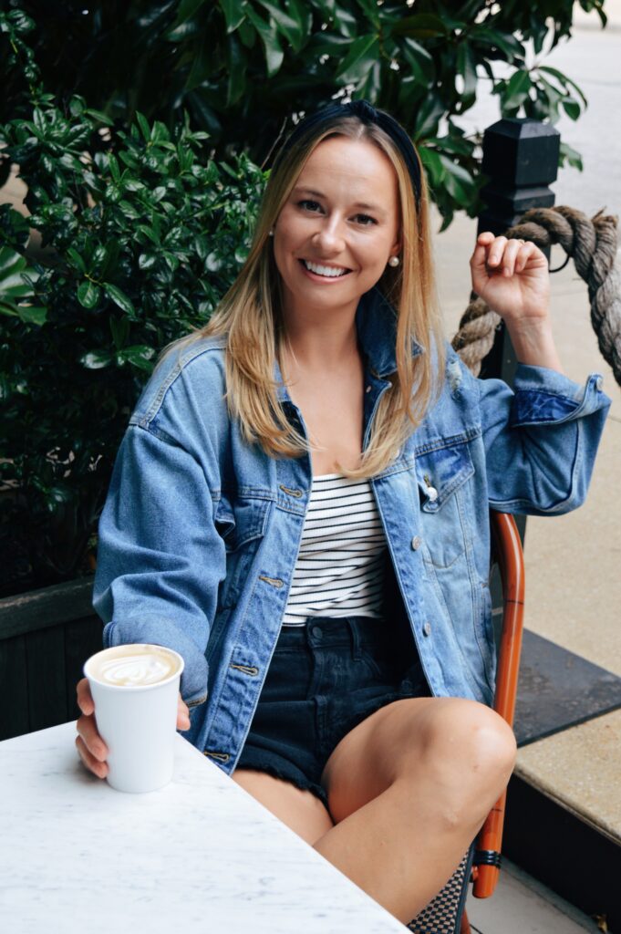
<svg viewBox="0 0 621 934"><path fill-rule="evenodd" d="M542 516L581 505L611 404L601 376L580 386L519 363L513 389L500 379L478 383L490 506Z"/></svg>

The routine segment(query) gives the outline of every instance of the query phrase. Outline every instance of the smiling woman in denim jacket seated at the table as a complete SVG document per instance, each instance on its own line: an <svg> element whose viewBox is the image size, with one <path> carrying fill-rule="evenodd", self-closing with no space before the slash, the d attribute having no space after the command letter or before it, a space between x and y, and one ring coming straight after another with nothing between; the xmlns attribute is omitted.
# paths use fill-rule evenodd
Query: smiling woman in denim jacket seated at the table
<svg viewBox="0 0 621 934"><path fill-rule="evenodd" d="M579 505L609 404L560 373L543 254L481 233L471 266L515 391L443 343L402 128L364 102L304 120L233 288L143 392L100 524L106 647L180 652L177 728L404 923L515 762L488 506ZM104 777L84 680L78 702Z"/></svg>

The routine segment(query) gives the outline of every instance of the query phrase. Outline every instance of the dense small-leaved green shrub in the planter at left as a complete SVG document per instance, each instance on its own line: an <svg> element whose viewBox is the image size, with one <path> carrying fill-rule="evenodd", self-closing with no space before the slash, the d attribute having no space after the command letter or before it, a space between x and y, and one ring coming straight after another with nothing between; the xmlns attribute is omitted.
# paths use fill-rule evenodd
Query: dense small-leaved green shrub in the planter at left
<svg viewBox="0 0 621 934"><path fill-rule="evenodd" d="M84 569L137 394L233 281L266 177L207 159L187 120L110 133L28 67L28 119L0 125L31 212L0 205L0 594Z"/></svg>

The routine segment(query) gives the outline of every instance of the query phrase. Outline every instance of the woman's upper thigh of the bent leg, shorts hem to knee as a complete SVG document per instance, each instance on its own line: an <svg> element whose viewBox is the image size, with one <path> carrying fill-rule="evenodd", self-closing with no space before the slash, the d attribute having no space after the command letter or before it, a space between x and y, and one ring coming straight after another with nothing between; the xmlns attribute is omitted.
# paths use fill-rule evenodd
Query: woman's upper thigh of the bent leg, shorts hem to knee
<svg viewBox="0 0 621 934"><path fill-rule="evenodd" d="M433 747L445 768L460 768L465 750L491 738L499 761L513 767L515 738L501 716L477 701L419 697L393 701L352 729L321 774L336 823L377 798L398 778L414 774ZM445 755L451 751L454 755ZM508 775L507 775L508 780Z"/></svg>

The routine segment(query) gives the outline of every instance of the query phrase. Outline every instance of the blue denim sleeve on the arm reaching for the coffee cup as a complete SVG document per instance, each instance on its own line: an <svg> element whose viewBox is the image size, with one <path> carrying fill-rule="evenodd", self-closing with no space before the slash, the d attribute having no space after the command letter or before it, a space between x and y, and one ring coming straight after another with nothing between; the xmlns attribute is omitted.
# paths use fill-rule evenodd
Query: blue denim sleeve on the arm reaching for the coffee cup
<svg viewBox="0 0 621 934"><path fill-rule="evenodd" d="M99 523L93 606L104 644L151 643L184 659L181 695L207 696L205 648L225 551L200 463L162 432L131 426Z"/></svg>

